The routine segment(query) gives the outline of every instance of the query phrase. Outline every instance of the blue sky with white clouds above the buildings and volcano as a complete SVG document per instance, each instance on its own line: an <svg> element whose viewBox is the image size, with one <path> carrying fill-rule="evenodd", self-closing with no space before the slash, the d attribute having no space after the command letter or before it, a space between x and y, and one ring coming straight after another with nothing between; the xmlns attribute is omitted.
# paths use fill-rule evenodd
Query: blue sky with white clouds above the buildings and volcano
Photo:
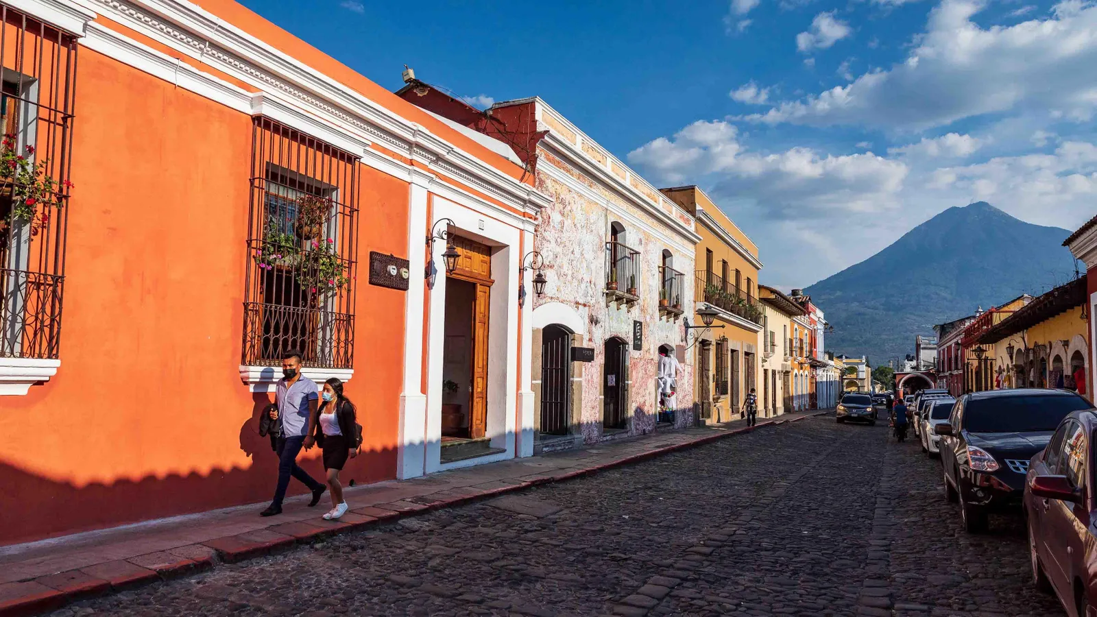
<svg viewBox="0 0 1097 617"><path fill-rule="evenodd" d="M1093 2L244 3L389 89L407 64L482 104L541 96L656 186L705 188L785 289L969 201L1097 213Z"/></svg>

